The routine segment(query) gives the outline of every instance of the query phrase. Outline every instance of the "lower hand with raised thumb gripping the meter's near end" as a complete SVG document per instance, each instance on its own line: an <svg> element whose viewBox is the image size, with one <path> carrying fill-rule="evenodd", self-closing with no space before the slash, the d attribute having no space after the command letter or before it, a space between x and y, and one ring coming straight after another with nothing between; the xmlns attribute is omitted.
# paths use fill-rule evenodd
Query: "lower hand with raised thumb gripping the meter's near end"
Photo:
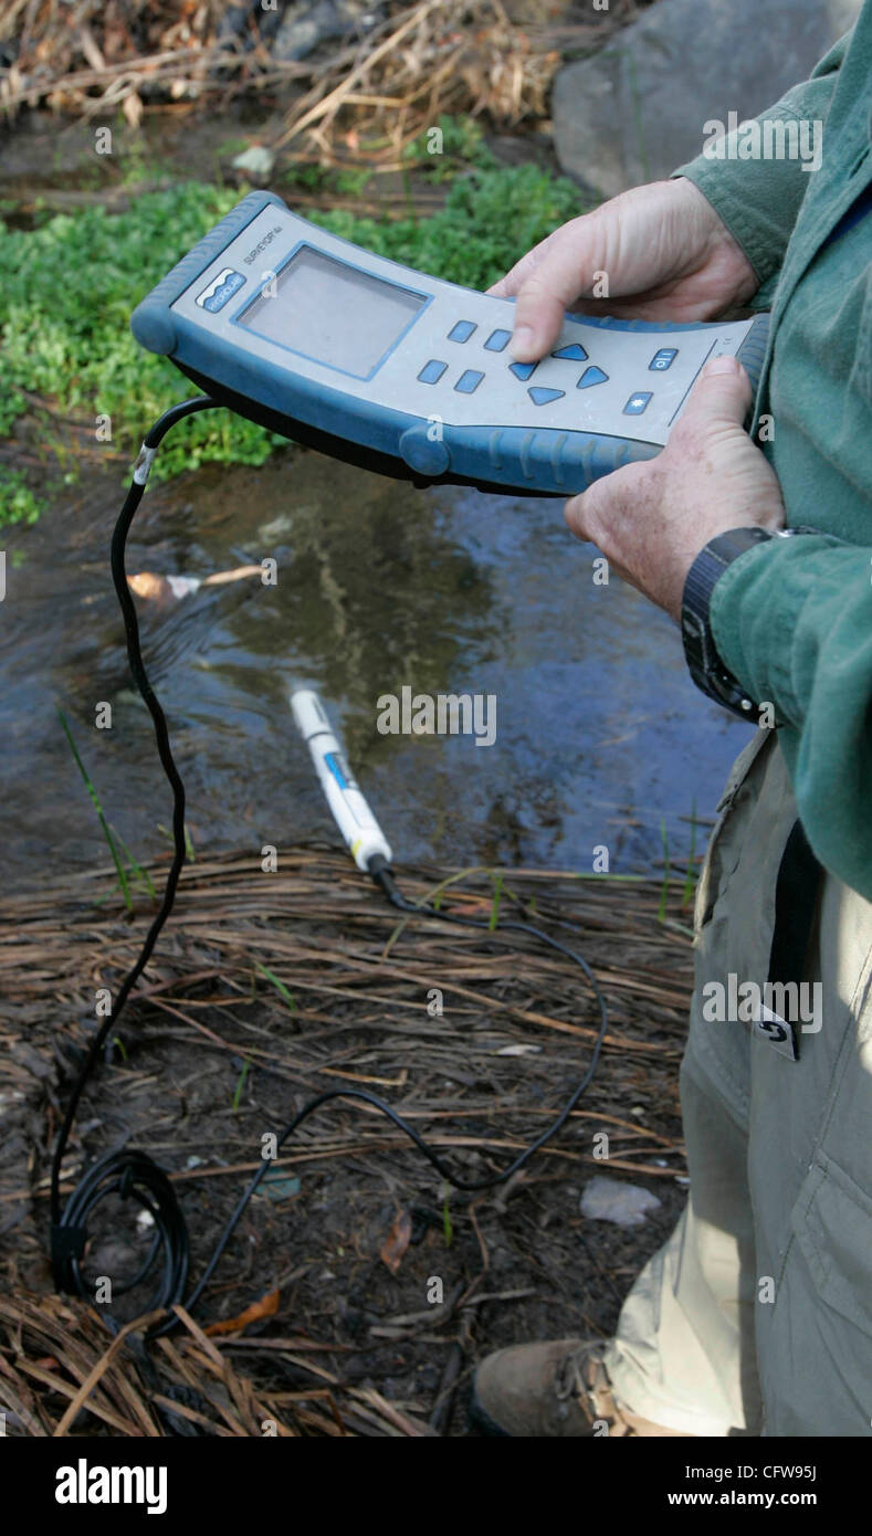
<svg viewBox="0 0 872 1536"><path fill-rule="evenodd" d="M742 422L751 381L735 358L714 358L656 459L628 464L566 502L579 539L674 619L685 578L718 533L757 524L784 527L775 472Z"/></svg>

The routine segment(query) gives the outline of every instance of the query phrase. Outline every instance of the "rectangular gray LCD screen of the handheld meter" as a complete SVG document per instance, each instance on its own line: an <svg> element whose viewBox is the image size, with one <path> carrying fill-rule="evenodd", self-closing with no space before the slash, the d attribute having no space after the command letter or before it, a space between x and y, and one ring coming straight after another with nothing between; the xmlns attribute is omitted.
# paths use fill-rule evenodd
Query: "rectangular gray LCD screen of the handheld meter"
<svg viewBox="0 0 872 1536"><path fill-rule="evenodd" d="M239 324L315 362L367 379L425 303L425 293L301 246Z"/></svg>

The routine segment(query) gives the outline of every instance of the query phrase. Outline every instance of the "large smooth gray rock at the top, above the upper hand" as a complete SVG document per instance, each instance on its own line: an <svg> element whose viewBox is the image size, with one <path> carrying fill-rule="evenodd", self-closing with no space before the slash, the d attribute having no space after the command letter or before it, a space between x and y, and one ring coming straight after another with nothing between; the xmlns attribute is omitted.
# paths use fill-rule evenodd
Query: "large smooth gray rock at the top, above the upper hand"
<svg viewBox="0 0 872 1536"><path fill-rule="evenodd" d="M757 117L849 29L861 0L659 0L554 80L560 164L614 197L699 155L703 123Z"/></svg>

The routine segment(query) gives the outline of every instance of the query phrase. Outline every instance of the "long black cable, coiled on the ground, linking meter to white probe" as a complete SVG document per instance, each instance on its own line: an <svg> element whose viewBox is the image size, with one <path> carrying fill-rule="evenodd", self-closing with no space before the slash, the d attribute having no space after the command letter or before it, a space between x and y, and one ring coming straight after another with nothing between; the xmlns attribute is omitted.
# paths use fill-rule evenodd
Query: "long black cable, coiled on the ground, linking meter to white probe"
<svg viewBox="0 0 872 1536"><path fill-rule="evenodd" d="M115 1195L121 1200L135 1200L137 1204L147 1213L147 1217L154 1223L155 1235L152 1238L149 1253L144 1263L141 1264L140 1270L130 1279L123 1281L121 1284L115 1284L114 1290L117 1293L123 1293L132 1290L135 1286L140 1286L150 1275L152 1269L155 1267L155 1261L158 1260L158 1255L163 1253L161 1275L157 1279L150 1304L147 1309L144 1309L149 1312L157 1312L161 1309L169 1312L169 1309L175 1303L181 1303L184 1298L184 1287L187 1284L187 1273L189 1273L190 1243L189 1243L187 1227L184 1224L181 1207L178 1204L175 1190L167 1175L161 1167L158 1167L157 1163L152 1161L152 1158L147 1157L146 1152L126 1150L126 1149L120 1152L109 1152L106 1157L100 1158L100 1161L94 1163L88 1169L88 1172L81 1177L80 1183L75 1186L66 1206L61 1209L61 1195L60 1195L61 1163L84 1084L88 1083L94 1071L94 1066L97 1064L97 1058L106 1043L106 1038L118 1025L118 1018L124 1009L124 1005L130 995L132 988L135 986L146 965L149 963L160 931L164 926L172 911L178 879L186 859L184 783L181 780L181 776L175 765L175 759L172 756L166 716L161 710L161 705L157 699L157 694L149 682L144 668L143 653L140 647L140 625L137 621L137 608L130 596L130 588L127 585L127 576L124 570L124 551L127 544L127 533L130 530L134 515L143 499L143 492L146 487L152 459L155 456L155 450L158 449L161 439L169 432L169 429L175 425L177 421L181 421L184 416L189 416L193 412L207 410L215 404L216 401L212 401L209 399L209 396L201 395L197 396L195 399L186 399L180 406L172 406L170 410L164 412L164 415L160 416L160 419L155 422L155 425L150 429L150 432L146 435L143 441L140 458L137 459L137 464L134 467L134 482L127 492L124 505L121 507L121 511L118 515L118 522L115 524L115 531L112 535L112 581L115 585L118 602L121 605L121 616L124 621L124 631L127 637L127 659L130 664L130 671L134 674L134 682L137 684L137 688L140 690L140 694L143 696L147 710L152 716L158 756L172 788L173 859L166 879L160 911L146 934L146 940L143 943L143 948L140 951L135 965L130 968L130 971L124 977L124 982L121 983L118 997L115 998L109 1018L103 1023L103 1026L98 1029L97 1035L91 1043L91 1049L88 1052L84 1064L72 1089L66 1107L66 1115L63 1118L63 1124L57 1140L55 1154L52 1160L52 1174L51 1174L51 1220L52 1220L51 1252L52 1252L52 1272L57 1289L88 1298L89 1290L84 1283L84 1276L81 1273L81 1260L84 1255L84 1246L88 1240L88 1218L92 1215L97 1206L101 1201L107 1200L111 1195ZM387 895L390 903L396 906L399 911L418 917L434 917L439 919L441 922L459 923L467 928L490 929L490 923L482 923L477 922L476 919L462 917L461 914L456 912L444 912L436 909L434 906L416 905L415 902L407 902L407 899L399 891L393 871L387 868L387 865L379 856L376 856L370 862L370 874L376 882L376 885ZM276 1150L278 1147L282 1147L284 1143L295 1134L298 1126L301 1126L302 1121L307 1120L309 1115L315 1114L315 1111L319 1109L322 1104L327 1104L330 1103L330 1100L335 1098L348 1098L348 1100L358 1100L365 1104L372 1104L382 1115L387 1115L387 1118L415 1143L418 1150L427 1158L428 1163L433 1164L433 1167L442 1175L442 1178L447 1180L450 1184L453 1184L456 1189L468 1192L479 1189L493 1189L497 1184L504 1184L520 1167L524 1167L524 1164L528 1163L530 1158L542 1146L545 1146L545 1143L550 1141L551 1137L554 1137L560 1130L560 1127L566 1123L573 1109L579 1103L579 1098L588 1087L596 1072L599 1055L602 1051L602 1043L608 1028L608 1012L599 983L590 965L582 955L577 955L574 951L559 943L559 940L553 938L550 934L545 934L540 928L534 928L531 923L508 922L497 925L499 932L505 932L507 929L514 932L530 934L539 942L548 945L551 949L556 949L559 954L566 955L577 966L580 966L588 982L591 983L600 1011L600 1026L594 1041L594 1049L591 1054L588 1071L585 1072L582 1081L574 1089L565 1107L542 1132L542 1135L536 1138L536 1141L533 1141L528 1147L525 1147L525 1150L517 1158L514 1158L514 1161L510 1163L510 1166L505 1167L500 1174L493 1174L487 1178L477 1178L477 1180L462 1178L448 1167L448 1164L439 1157L439 1154L434 1152L433 1147L430 1147L422 1137L419 1137L418 1130L415 1130L415 1127L410 1126L402 1118L402 1115L396 1112L396 1109L391 1109L390 1104L385 1104L384 1100L378 1098L376 1094L370 1094L365 1089L356 1089L356 1087L336 1087L336 1089L329 1089L324 1094L318 1094L315 1098L312 1098L307 1104L302 1106L302 1109L293 1117L290 1124L281 1132L276 1141ZM233 1235L236 1223L239 1221L246 1206L249 1204L252 1195L258 1189L261 1180L266 1177L270 1164L272 1158L263 1161L261 1167L250 1180L247 1189L236 1201L236 1206L218 1240L218 1244L215 1246L215 1250L206 1266L206 1270L203 1272L198 1284L187 1298L186 1303L187 1310L197 1306L200 1296L203 1295L206 1286L209 1284L215 1272L215 1267L220 1263L221 1255L224 1253L224 1249L230 1241L230 1236ZM104 1315L109 1324L114 1326L111 1315L109 1313ZM170 1315L166 1322L161 1322L158 1327L152 1327L149 1330L149 1335L157 1336L160 1333L167 1333L170 1329L177 1327L177 1322L178 1319L175 1318L175 1315Z"/></svg>

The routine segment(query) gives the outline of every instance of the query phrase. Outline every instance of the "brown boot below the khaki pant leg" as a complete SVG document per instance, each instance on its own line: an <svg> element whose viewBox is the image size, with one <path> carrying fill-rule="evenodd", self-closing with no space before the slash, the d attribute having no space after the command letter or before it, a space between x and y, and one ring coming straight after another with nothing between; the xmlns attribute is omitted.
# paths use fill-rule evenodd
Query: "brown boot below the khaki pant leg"
<svg viewBox="0 0 872 1536"><path fill-rule="evenodd" d="M516 1439L680 1435L617 1407L603 1364L605 1342L551 1339L497 1349L476 1370L473 1421L487 1435Z"/></svg>

